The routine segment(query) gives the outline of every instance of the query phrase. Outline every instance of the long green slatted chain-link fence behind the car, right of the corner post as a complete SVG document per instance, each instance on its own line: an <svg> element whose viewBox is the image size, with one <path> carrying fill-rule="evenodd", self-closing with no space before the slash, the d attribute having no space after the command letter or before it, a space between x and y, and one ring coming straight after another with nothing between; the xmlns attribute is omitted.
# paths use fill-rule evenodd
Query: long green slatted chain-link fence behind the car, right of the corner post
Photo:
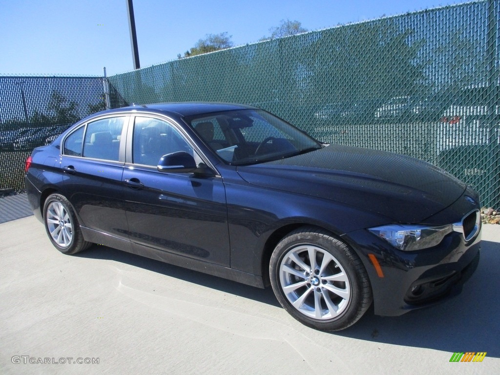
<svg viewBox="0 0 500 375"><path fill-rule="evenodd" d="M500 205L499 1L263 41L109 77L129 103L228 101L327 142L415 156Z"/></svg>

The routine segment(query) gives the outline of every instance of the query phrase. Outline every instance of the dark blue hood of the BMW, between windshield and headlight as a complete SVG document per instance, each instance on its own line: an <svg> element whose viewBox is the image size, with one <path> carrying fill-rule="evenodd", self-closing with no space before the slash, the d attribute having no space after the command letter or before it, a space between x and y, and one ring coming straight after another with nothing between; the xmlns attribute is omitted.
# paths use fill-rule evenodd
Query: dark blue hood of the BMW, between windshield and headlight
<svg viewBox="0 0 500 375"><path fill-rule="evenodd" d="M237 171L254 185L329 199L400 223L423 223L456 201L466 188L425 161L336 144L238 166Z"/></svg>

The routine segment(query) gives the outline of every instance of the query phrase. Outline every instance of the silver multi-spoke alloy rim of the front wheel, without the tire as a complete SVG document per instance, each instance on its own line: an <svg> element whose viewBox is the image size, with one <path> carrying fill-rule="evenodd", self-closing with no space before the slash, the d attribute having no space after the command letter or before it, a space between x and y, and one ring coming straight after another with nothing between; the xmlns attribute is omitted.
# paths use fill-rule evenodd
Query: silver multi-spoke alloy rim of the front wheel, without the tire
<svg viewBox="0 0 500 375"><path fill-rule="evenodd" d="M288 250L279 265L279 281L291 305L311 318L335 318L349 304L351 288L345 269L328 251L314 245Z"/></svg>

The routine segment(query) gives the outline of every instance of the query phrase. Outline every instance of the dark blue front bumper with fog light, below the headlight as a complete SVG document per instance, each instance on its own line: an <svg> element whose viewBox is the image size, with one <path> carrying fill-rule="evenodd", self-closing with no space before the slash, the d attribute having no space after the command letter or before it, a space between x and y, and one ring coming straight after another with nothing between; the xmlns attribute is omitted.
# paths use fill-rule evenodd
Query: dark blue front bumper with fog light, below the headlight
<svg viewBox="0 0 500 375"><path fill-rule="evenodd" d="M400 251L367 230L349 233L345 239L355 243L366 268L377 315L401 315L459 294L479 262L480 230L469 241L451 232L439 245L412 252Z"/></svg>

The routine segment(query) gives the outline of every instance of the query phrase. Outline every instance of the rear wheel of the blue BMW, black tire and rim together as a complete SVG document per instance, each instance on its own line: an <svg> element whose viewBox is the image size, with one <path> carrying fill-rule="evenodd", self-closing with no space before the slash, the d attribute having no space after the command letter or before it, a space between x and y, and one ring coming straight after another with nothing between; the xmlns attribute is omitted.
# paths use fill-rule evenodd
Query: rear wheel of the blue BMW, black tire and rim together
<svg viewBox="0 0 500 375"><path fill-rule="evenodd" d="M43 205L43 223L52 244L64 254L75 254L91 245L83 239L73 208L64 195L47 197Z"/></svg>

